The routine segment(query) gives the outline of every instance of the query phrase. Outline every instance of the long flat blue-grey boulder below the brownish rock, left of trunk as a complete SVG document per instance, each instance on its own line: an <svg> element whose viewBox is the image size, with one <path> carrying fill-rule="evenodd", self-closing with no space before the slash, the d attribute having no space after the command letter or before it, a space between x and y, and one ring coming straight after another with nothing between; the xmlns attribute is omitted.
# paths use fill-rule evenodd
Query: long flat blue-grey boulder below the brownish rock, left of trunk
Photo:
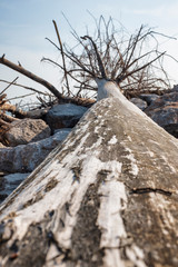
<svg viewBox="0 0 178 267"><path fill-rule="evenodd" d="M70 130L61 129L56 135L37 142L0 148L0 170L8 172L31 172L53 148L66 139Z"/></svg>

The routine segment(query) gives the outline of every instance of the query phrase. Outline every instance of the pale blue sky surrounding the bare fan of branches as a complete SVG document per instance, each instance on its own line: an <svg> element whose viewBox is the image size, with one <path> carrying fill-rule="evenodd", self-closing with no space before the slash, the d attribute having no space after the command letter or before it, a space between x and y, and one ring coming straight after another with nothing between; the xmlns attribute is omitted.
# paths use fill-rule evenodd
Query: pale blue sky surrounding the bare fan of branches
<svg viewBox="0 0 178 267"><path fill-rule="evenodd" d="M70 28L62 17L63 12L79 36L85 33L86 26L91 29L95 17L111 16L120 21L129 32L140 24L156 27L157 31L178 38L178 1L177 0L0 0L0 55L18 62L43 77L60 88L57 68L41 63L41 58L58 59L59 53L44 40L46 37L56 41L52 19L60 29L62 40L70 43ZM178 41L160 40L160 49L178 59ZM178 63L168 62L168 72L178 83ZM19 73L0 65L0 79L13 80ZM42 89L38 83L19 76L19 83ZM1 88L4 83L0 82ZM27 91L8 89L8 96L14 97Z"/></svg>

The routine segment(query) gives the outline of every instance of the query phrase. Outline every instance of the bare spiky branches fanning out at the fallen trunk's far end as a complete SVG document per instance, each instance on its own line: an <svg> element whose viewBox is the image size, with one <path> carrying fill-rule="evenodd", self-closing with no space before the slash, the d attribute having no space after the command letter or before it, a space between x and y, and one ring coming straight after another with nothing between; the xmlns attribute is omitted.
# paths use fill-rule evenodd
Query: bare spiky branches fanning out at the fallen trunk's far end
<svg viewBox="0 0 178 267"><path fill-rule="evenodd" d="M164 68L164 58L167 53L159 51L157 41L157 34L161 33L141 26L134 34L128 34L123 27L116 29L112 18L107 21L102 16L99 20L95 19L95 22L96 34L87 32L83 37L80 37L69 22L76 40L73 48L65 43L62 47L57 46L47 38L66 61L62 65L49 58L42 60L59 67L63 72L62 80L66 80L66 77L72 79L78 88L77 95L97 90L92 82L97 77L116 81L127 97L138 92L159 93L161 90L170 89L168 75ZM55 26L58 29L56 22ZM65 86L68 90L68 86Z"/></svg>

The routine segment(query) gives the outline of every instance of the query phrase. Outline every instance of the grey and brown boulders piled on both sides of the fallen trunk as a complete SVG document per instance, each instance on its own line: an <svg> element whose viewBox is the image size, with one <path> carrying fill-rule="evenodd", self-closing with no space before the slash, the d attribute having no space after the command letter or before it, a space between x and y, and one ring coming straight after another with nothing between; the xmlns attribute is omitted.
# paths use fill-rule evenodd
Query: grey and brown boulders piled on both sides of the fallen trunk
<svg viewBox="0 0 178 267"><path fill-rule="evenodd" d="M164 96L140 95L130 101L178 138L178 87ZM11 123L6 132L6 146L0 144L0 202L65 140L87 110L72 103L57 105L43 120L23 119Z"/></svg>

